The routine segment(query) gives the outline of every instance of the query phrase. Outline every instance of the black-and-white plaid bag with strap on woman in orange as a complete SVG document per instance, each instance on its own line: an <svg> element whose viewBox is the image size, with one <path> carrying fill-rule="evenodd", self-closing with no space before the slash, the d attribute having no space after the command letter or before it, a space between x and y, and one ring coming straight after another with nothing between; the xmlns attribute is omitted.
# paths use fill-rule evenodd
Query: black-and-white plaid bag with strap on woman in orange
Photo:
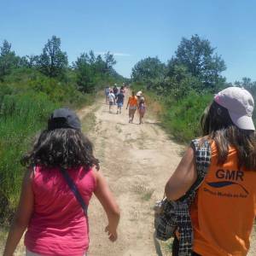
<svg viewBox="0 0 256 256"><path fill-rule="evenodd" d="M166 241L178 230L178 256L190 256L193 247L193 228L189 207L195 199L196 191L201 186L211 164L211 146L206 141L191 142L195 152L197 179L191 188L177 201L168 201L166 197L156 202L154 207L154 228L156 238Z"/></svg>

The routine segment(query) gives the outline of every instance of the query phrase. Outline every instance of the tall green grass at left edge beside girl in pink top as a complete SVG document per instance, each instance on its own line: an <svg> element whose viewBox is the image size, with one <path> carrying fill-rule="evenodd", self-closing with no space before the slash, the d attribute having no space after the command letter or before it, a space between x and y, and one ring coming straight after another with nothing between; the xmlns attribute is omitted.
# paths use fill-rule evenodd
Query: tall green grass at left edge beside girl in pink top
<svg viewBox="0 0 256 256"><path fill-rule="evenodd" d="M9 218L20 195L24 168L20 158L32 137L47 124L47 118L60 104L44 93L5 95L0 108L0 215Z"/></svg>

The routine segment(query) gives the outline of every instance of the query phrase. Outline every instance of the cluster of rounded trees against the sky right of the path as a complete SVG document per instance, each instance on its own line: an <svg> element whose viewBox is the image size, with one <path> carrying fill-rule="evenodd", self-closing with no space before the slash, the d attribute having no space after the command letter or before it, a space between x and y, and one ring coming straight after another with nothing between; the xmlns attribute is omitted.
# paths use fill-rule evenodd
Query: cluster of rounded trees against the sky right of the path
<svg viewBox="0 0 256 256"><path fill-rule="evenodd" d="M197 93L216 93L230 86L222 73L226 65L216 48L209 40L195 34L191 38L182 38L175 54L167 63L156 57L147 57L138 61L132 68L134 82L143 82L149 90L159 94L172 94L177 99L188 95L191 90ZM243 78L234 83L252 90L256 85L251 79Z"/></svg>

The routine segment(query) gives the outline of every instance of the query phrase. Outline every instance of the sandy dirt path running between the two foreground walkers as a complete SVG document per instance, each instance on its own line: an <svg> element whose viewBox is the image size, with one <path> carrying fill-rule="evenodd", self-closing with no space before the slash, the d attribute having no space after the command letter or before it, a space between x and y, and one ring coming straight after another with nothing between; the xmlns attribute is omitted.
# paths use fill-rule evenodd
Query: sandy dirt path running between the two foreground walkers
<svg viewBox="0 0 256 256"><path fill-rule="evenodd" d="M128 111L108 113L103 102L95 112L89 137L95 144L102 172L119 202L119 240L108 241L103 230L107 219L95 198L90 203L89 255L161 255L154 247L154 201L159 200L166 180L180 160L183 148L168 139L154 119L145 124L128 123ZM86 125L86 116L83 120Z"/></svg>

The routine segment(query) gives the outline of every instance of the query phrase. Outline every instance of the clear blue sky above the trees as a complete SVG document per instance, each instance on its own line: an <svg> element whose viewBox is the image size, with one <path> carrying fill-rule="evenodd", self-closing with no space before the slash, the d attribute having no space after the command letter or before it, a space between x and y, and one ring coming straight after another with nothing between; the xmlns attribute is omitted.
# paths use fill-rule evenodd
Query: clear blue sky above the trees
<svg viewBox="0 0 256 256"><path fill-rule="evenodd" d="M38 55L52 35L71 63L82 52L110 51L129 77L147 56L169 60L181 38L197 33L222 55L229 82L256 80L253 0L9 0L0 7L0 42L18 55Z"/></svg>

